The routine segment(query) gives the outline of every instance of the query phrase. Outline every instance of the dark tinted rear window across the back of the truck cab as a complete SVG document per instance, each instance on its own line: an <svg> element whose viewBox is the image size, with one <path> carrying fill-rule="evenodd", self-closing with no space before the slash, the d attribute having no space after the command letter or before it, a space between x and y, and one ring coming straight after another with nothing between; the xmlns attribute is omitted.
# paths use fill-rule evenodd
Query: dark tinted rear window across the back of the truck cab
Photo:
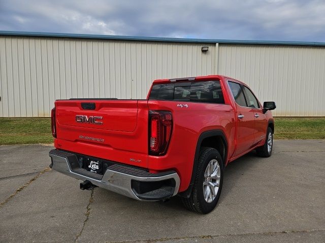
<svg viewBox="0 0 325 243"><path fill-rule="evenodd" d="M149 99L224 104L219 80L154 85Z"/></svg>

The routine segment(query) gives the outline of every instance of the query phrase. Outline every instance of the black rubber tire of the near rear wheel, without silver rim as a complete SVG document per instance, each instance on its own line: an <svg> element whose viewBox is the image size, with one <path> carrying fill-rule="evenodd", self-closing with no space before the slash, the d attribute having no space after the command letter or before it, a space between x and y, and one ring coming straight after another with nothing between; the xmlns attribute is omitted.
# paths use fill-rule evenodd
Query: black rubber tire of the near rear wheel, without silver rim
<svg viewBox="0 0 325 243"><path fill-rule="evenodd" d="M206 180L204 177L205 171L207 169L208 164L212 159L216 159L219 168L220 168L220 181L219 181L219 189L215 198L211 203L208 203L204 198L203 193L203 182ZM200 150L199 160L198 160L198 168L196 177L194 179L194 185L192 188L191 195L189 198L182 197L182 203L190 211L194 211L201 214L210 213L217 205L223 181L223 161L220 156L220 153L210 147L202 147Z"/></svg>

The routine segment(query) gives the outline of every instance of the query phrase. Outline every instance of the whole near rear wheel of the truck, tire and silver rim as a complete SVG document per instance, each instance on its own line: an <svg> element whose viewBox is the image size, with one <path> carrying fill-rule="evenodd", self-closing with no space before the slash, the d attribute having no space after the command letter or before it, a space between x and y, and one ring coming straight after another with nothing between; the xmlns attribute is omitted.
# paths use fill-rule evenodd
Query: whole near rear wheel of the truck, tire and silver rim
<svg viewBox="0 0 325 243"><path fill-rule="evenodd" d="M194 212L207 214L217 205L223 180L223 161L219 152L202 147L197 174L189 198L182 198L184 206Z"/></svg>

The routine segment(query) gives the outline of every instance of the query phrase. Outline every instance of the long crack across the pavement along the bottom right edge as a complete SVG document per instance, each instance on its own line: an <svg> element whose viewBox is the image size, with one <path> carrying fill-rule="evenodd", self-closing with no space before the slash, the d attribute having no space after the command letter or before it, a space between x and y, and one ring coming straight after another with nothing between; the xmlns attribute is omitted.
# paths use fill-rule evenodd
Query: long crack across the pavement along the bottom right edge
<svg viewBox="0 0 325 243"><path fill-rule="evenodd" d="M122 240L122 241L106 241L105 243L136 243L136 242L146 242L154 243L158 241L167 241L167 240L182 240L182 239L213 239L214 237L229 237L229 236L246 236L246 235L267 235L267 234L287 234L287 233L301 233L301 232L317 232L325 231L325 229L307 229L307 230L284 230L284 231L275 231L275 232L256 232L256 233L241 233L241 234L220 234L220 235L199 235L199 236L184 236L184 237L166 237L158 239L136 239L136 240Z"/></svg>

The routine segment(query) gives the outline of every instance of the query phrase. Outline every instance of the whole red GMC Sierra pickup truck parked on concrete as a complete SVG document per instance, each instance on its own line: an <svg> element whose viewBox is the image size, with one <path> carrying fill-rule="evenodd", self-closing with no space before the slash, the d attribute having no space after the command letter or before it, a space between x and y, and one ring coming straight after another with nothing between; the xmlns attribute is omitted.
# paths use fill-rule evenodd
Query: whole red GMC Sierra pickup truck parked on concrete
<svg viewBox="0 0 325 243"><path fill-rule="evenodd" d="M221 75L154 80L146 100L56 100L51 168L138 200L174 195L213 210L228 163L271 156L274 121L242 82Z"/></svg>

